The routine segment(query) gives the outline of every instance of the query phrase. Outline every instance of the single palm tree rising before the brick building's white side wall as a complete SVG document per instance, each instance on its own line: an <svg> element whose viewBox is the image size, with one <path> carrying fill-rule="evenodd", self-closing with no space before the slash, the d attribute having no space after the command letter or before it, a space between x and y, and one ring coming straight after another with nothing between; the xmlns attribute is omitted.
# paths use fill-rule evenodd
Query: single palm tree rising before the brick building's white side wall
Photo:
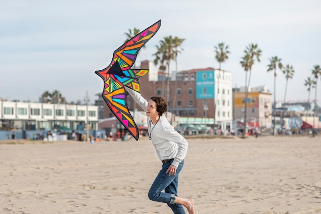
<svg viewBox="0 0 321 214"><path fill-rule="evenodd" d="M224 63L225 60L229 59L229 56L228 56L228 54L230 53L229 46L225 45L224 43L219 43L217 46L214 46L214 48L215 48L215 59L219 64L219 71L218 72L220 72L220 64ZM223 75L224 75L224 71L223 71ZM218 75L217 78L218 78L217 79L217 91L219 91L220 75ZM214 93L214 95L215 95L215 93ZM216 96L214 99L215 99L214 100L214 123L215 123L216 122L215 121L216 102L217 102Z"/></svg>

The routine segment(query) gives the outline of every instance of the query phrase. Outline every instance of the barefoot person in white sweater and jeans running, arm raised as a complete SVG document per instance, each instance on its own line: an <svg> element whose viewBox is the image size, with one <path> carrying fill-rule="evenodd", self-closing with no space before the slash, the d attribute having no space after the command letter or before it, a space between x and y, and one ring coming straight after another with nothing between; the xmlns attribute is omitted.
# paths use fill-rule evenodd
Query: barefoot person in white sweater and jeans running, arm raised
<svg viewBox="0 0 321 214"><path fill-rule="evenodd" d="M146 111L149 140L156 149L162 169L159 171L154 183L148 192L148 198L152 201L167 203L175 214L194 214L193 199L177 197L178 174L184 165L188 143L185 138L174 130L164 113L167 111L167 103L163 98L153 96L148 102L143 96L127 89L132 98ZM162 192L165 190L165 192Z"/></svg>

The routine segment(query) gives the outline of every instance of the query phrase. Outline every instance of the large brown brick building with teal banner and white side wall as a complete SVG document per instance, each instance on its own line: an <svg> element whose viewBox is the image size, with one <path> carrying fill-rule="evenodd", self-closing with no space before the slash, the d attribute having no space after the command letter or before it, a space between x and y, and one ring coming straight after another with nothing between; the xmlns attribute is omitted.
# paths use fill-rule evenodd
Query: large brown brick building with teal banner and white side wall
<svg viewBox="0 0 321 214"><path fill-rule="evenodd" d="M231 128L232 77L230 72L214 68L179 71L177 75L175 75L175 72L172 72L169 80L169 89L167 89L169 76L165 75L165 92L163 93L162 75L159 75L153 63L142 61L140 68L149 70L139 80L141 93L144 98L149 99L151 96L163 96L168 103L168 111L173 113L173 117L200 118L203 124L212 127L214 109L216 108L215 126L223 130ZM168 90L169 97L167 98ZM133 112L136 109L141 110L129 95L127 96L127 105L129 110ZM109 108L105 108L104 115L110 115ZM174 121L174 119L170 121ZM193 120L184 121L192 123Z"/></svg>

